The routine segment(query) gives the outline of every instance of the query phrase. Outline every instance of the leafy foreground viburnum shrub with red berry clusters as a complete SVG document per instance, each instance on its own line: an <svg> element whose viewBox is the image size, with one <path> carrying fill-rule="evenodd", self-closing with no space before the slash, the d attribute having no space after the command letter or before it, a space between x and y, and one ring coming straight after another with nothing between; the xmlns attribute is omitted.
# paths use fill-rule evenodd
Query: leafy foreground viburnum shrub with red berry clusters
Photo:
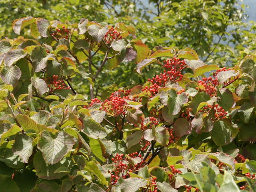
<svg viewBox="0 0 256 192"><path fill-rule="evenodd" d="M123 23L27 26L0 41L0 191L255 191L255 53L227 69ZM142 84L98 84L125 62Z"/></svg>

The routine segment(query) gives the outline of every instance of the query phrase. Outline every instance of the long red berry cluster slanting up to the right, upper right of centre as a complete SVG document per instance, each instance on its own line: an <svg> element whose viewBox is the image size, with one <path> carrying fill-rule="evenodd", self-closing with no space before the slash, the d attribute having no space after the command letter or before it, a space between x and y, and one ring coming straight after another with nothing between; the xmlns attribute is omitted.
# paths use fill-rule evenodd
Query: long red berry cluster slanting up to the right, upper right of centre
<svg viewBox="0 0 256 192"><path fill-rule="evenodd" d="M150 98L154 97L156 93L158 93L159 88L164 87L166 82L175 81L178 82L182 79L182 69L187 67L185 61L181 61L179 58L172 58L168 60L164 60L164 66L166 70L163 71L160 75L156 75L152 79L148 78L148 81L152 83L152 85L143 87L142 91L149 91ZM185 91L185 90L184 90Z"/></svg>

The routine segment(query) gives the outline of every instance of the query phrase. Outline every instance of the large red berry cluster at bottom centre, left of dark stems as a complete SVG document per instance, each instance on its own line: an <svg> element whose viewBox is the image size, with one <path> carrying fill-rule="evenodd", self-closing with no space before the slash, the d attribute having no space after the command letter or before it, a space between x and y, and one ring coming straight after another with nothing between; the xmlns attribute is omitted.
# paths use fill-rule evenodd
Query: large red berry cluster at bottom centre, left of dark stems
<svg viewBox="0 0 256 192"><path fill-rule="evenodd" d="M133 164L132 158L134 157L141 158L141 162L138 164ZM116 154L115 157L111 158L111 160L113 161L115 167L113 171L109 171L111 174L112 185L115 185L120 177L123 179L130 178L129 172L138 171L138 169L144 164L142 156L138 154L138 152L129 154L127 157L124 157L123 154Z"/></svg>

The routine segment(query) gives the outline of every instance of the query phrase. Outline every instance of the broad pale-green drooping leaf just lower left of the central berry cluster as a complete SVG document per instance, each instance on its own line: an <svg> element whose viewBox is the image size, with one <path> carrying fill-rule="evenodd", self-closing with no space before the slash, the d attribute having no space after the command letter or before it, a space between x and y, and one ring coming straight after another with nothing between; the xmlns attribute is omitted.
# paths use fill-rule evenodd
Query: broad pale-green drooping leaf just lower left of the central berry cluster
<svg viewBox="0 0 256 192"><path fill-rule="evenodd" d="M106 129L89 117L85 117L84 119L83 133L93 139L103 139L107 136Z"/></svg>

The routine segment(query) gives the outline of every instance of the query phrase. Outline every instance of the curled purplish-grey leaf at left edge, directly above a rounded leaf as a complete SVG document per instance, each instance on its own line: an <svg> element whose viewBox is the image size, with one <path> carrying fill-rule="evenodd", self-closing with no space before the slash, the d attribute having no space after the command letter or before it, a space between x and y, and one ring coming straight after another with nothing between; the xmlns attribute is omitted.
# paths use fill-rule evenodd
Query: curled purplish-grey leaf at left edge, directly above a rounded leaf
<svg viewBox="0 0 256 192"><path fill-rule="evenodd" d="M24 53L22 49L13 49L8 51L4 56L5 65L11 67L13 63L17 62L21 58L26 57L27 53Z"/></svg>

